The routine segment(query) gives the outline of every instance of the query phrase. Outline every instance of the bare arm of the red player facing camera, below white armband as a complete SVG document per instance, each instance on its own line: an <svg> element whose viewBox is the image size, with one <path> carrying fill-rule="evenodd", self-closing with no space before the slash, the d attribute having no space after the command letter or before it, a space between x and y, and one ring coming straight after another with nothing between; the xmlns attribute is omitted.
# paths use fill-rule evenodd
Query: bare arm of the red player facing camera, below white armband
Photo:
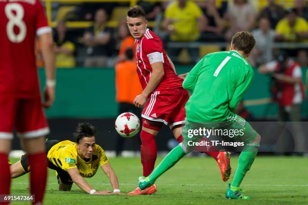
<svg viewBox="0 0 308 205"><path fill-rule="evenodd" d="M152 93L152 91L158 86L158 84L164 77L165 72L162 62L152 63L151 68L152 68L152 74L151 77L149 78L146 87L144 88L143 92L137 95L134 99L134 105L137 108L141 108L142 106L144 106L148 95Z"/></svg>

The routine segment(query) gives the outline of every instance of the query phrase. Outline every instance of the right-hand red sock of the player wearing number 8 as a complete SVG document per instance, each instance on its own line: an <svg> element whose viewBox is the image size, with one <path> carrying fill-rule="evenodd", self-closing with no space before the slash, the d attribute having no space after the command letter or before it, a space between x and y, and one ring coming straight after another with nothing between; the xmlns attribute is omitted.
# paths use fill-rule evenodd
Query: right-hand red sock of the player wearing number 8
<svg viewBox="0 0 308 205"><path fill-rule="evenodd" d="M47 181L47 158L46 153L36 153L28 155L30 166L31 194L35 195L35 203L43 203L43 197Z"/></svg>

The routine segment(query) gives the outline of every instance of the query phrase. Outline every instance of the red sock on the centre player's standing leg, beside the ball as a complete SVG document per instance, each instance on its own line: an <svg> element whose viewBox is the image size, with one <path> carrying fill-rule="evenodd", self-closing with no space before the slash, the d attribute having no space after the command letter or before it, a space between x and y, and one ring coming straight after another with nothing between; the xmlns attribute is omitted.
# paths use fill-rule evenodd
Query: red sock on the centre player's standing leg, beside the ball
<svg viewBox="0 0 308 205"><path fill-rule="evenodd" d="M157 157L157 147L155 136L141 130L141 163L143 166L143 176L148 176L154 169L156 157Z"/></svg>

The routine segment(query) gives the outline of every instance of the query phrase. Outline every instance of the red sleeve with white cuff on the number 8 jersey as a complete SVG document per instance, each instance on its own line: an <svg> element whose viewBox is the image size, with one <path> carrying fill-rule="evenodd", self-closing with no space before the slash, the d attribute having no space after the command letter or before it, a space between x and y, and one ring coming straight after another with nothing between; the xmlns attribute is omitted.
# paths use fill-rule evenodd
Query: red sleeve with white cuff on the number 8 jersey
<svg viewBox="0 0 308 205"><path fill-rule="evenodd" d="M39 36L51 32L51 28L48 26L47 18L42 3L39 0L37 0L35 6L37 10L36 34Z"/></svg>

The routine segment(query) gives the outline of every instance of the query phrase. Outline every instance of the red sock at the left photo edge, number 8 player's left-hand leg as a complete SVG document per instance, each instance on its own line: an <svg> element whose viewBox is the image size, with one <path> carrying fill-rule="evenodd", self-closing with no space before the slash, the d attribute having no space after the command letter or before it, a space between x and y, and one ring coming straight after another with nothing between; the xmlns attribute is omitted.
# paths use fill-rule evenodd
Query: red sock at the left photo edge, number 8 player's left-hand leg
<svg viewBox="0 0 308 205"><path fill-rule="evenodd" d="M0 153L0 167L0 194L10 195L11 173L7 153Z"/></svg>

